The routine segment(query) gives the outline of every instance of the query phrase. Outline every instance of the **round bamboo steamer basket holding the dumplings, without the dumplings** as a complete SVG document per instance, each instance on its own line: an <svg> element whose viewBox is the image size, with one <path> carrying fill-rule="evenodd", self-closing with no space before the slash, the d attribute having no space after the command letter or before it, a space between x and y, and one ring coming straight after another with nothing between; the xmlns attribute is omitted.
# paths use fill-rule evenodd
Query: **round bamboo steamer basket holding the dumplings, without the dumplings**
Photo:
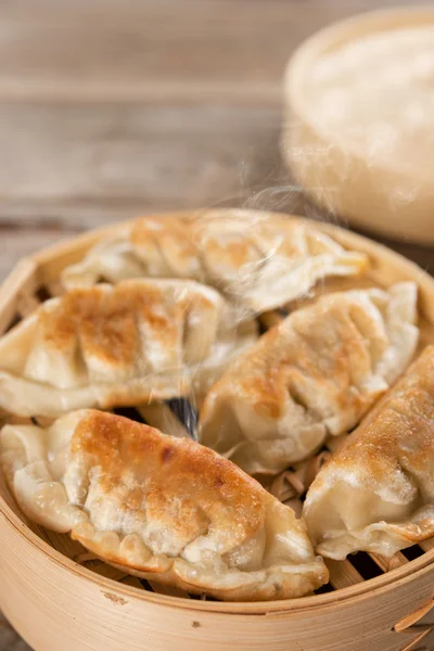
<svg viewBox="0 0 434 651"><path fill-rule="evenodd" d="M360 281L365 286L417 281L421 346L434 342L433 278L368 239L326 224L317 227L344 246L369 255L371 270ZM61 270L119 228L125 224L89 232L18 263L0 290L0 331L30 314L41 299L59 294ZM349 281L340 284L345 282ZM326 285L319 291L327 291ZM136 577L92 560L68 536L29 523L0 474L0 608L36 651L434 648L427 641L430 631L434 634L434 539L392 560L359 553L343 562L327 561L330 586L303 599L205 601L156 584L154 591L143 589Z"/></svg>

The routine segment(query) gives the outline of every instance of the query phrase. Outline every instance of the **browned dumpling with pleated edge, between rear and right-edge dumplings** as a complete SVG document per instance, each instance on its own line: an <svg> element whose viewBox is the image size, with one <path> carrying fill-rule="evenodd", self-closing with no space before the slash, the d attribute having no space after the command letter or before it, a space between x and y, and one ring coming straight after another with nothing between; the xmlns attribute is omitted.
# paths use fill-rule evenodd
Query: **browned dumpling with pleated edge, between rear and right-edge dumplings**
<svg viewBox="0 0 434 651"><path fill-rule="evenodd" d="M250 474L350 431L409 363L417 286L326 295L243 353L207 394L200 441Z"/></svg>

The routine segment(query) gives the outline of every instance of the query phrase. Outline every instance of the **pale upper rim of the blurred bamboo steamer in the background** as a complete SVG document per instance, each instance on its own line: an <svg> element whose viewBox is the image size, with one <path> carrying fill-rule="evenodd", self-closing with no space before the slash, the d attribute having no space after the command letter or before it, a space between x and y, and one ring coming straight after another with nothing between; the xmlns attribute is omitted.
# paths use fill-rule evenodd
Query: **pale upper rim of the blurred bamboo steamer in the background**
<svg viewBox="0 0 434 651"><path fill-rule="evenodd" d="M316 107L306 92L312 64L322 54L333 51L352 40L357 41L362 36L369 36L387 28L424 26L426 24L434 27L434 8L421 4L413 8L374 10L339 21L320 29L297 48L286 64L283 86L285 102L290 111L302 123L308 124L309 128L318 133L321 139L333 142L358 161L366 161L367 154L363 152L362 145L350 137L344 139L337 128L329 128L320 116L316 115ZM426 169L406 165L405 161L401 162L396 157L375 158L375 165L407 179L417 179L419 182L424 181L426 183L432 182L432 167Z"/></svg>

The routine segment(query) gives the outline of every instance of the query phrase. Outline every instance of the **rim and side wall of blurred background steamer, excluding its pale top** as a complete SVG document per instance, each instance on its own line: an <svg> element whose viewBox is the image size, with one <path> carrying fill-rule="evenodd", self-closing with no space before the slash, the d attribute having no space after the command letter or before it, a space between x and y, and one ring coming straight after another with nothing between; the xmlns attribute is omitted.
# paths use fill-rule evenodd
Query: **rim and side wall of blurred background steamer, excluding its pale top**
<svg viewBox="0 0 434 651"><path fill-rule="evenodd" d="M292 176L322 208L361 229L426 245L434 244L433 161L420 168L372 158L337 127L329 128L309 99L312 67L324 54L365 36L412 26L434 29L434 8L374 11L307 39L285 71L281 148Z"/></svg>

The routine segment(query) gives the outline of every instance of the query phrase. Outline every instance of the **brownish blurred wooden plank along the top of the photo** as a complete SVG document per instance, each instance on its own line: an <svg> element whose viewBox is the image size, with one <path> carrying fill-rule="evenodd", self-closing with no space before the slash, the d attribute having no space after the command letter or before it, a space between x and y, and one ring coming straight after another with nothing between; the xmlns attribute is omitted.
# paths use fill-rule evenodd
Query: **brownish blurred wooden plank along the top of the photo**
<svg viewBox="0 0 434 651"><path fill-rule="evenodd" d="M286 59L312 31L404 0L2 3L0 94L280 103ZM77 47L79 43L79 47Z"/></svg>

